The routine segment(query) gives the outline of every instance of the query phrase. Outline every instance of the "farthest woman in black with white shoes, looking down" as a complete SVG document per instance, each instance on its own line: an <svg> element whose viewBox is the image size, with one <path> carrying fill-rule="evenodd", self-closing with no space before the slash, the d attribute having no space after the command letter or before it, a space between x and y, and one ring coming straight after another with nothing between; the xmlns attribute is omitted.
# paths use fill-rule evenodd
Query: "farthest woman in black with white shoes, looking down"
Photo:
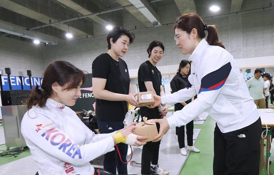
<svg viewBox="0 0 274 175"><path fill-rule="evenodd" d="M188 81L188 73L190 72L190 62L187 60L182 60L179 65L177 74L172 78L170 86L172 93L177 92L184 88L190 88L192 85ZM174 111L181 110L184 106L190 103L192 100L187 100L184 102L174 104ZM178 137L178 144L181 154L186 156L187 150L191 152L199 152L197 148L193 145L193 120L186 124L186 135L187 135L187 148L185 147L185 126L176 127L176 135Z"/></svg>

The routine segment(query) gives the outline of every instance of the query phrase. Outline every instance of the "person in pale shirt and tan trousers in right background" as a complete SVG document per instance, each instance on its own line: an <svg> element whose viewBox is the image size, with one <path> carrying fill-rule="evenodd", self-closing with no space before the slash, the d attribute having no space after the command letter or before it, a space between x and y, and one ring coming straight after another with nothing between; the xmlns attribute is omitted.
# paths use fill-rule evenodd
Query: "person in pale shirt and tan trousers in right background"
<svg viewBox="0 0 274 175"><path fill-rule="evenodd" d="M256 69L254 76L247 81L247 86L257 108L264 109L266 108L266 100L264 96L264 79L261 76L262 71Z"/></svg>

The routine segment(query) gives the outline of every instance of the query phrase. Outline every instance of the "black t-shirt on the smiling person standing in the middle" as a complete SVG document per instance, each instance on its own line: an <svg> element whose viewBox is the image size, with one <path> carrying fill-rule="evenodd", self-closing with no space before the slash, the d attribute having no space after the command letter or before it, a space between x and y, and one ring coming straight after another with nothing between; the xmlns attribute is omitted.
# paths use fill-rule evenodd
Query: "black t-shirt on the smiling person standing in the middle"
<svg viewBox="0 0 274 175"><path fill-rule="evenodd" d="M145 81L151 81L153 88L156 92L156 95L160 96L160 92L161 92L160 86L162 85L162 75L161 75L161 72L156 68L156 66L153 66L149 62L149 60L142 63L138 70L138 85L139 85L140 92L148 91L145 85ZM142 107L142 108L146 108L146 110L149 110L149 108L147 107Z"/></svg>

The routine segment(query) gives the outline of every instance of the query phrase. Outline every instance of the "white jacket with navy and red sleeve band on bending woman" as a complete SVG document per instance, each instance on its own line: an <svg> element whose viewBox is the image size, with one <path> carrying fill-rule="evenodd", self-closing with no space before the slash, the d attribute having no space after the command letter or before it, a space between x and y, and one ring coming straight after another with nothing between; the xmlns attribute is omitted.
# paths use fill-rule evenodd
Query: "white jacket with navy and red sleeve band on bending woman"
<svg viewBox="0 0 274 175"><path fill-rule="evenodd" d="M259 113L233 56L219 46L210 46L202 39L189 59L192 84L161 97L162 103L177 103L198 98L167 118L170 127L186 125L207 111L223 133L254 123Z"/></svg>

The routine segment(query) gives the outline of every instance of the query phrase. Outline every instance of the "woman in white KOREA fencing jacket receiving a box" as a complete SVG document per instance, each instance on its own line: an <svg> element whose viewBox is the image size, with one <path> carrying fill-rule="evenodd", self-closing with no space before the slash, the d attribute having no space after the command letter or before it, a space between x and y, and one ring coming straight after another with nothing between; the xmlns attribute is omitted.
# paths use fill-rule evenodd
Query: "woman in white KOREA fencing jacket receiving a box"
<svg viewBox="0 0 274 175"><path fill-rule="evenodd" d="M21 131L34 161L36 175L93 175L90 161L115 144L143 145L145 139L132 134L136 126L95 134L68 106L81 96L84 73L66 61L55 61L45 70L41 88L28 99Z"/></svg>

